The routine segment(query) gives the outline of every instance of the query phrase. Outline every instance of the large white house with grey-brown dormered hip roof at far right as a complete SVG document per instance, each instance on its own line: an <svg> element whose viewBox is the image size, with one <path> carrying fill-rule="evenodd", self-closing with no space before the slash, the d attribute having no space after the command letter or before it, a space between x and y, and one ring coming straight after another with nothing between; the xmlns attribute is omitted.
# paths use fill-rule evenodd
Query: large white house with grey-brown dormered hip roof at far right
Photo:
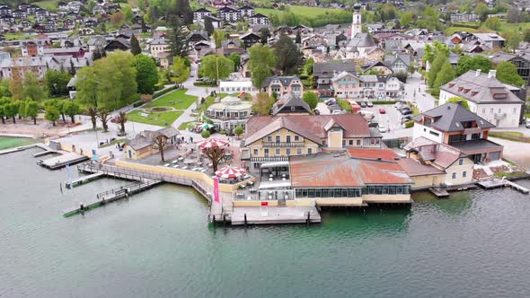
<svg viewBox="0 0 530 298"><path fill-rule="evenodd" d="M453 97L461 97L468 101L473 113L495 127L518 127L524 101L511 89L518 91L520 88L500 83L495 76L495 70L490 70L489 74L482 74L480 69L470 70L440 87L439 103L442 105ZM526 97L526 94L521 95Z"/></svg>

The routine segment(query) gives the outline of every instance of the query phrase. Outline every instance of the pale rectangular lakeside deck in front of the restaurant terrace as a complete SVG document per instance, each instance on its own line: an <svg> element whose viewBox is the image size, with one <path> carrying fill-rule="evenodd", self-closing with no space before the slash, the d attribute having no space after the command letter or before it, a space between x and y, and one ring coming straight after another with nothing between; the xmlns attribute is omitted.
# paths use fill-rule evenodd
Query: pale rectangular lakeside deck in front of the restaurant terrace
<svg viewBox="0 0 530 298"><path fill-rule="evenodd" d="M321 223L322 219L314 206L261 206L234 207L232 225Z"/></svg>

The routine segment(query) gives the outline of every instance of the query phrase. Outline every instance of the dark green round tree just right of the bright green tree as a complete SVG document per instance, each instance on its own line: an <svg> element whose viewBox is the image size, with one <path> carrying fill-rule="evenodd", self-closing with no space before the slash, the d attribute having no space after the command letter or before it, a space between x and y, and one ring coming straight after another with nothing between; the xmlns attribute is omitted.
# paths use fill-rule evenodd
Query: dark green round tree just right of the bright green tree
<svg viewBox="0 0 530 298"><path fill-rule="evenodd" d="M298 66L302 65L302 52L296 47L293 39L282 35L274 45L276 66L283 74L294 74Z"/></svg>

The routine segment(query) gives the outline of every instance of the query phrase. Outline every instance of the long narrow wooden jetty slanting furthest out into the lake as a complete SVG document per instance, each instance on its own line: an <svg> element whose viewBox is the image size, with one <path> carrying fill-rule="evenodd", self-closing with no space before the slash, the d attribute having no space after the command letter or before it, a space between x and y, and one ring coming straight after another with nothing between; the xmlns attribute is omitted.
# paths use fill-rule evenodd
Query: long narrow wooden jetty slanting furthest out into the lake
<svg viewBox="0 0 530 298"><path fill-rule="evenodd" d="M103 206L107 203L119 200L120 198L128 197L135 193L152 188L157 184L162 183L162 180L144 180L136 181L120 188L112 188L105 192L96 195L92 201L80 203L79 206L73 206L63 211L65 217L72 215L83 214L84 212L90 211L99 206Z"/></svg>

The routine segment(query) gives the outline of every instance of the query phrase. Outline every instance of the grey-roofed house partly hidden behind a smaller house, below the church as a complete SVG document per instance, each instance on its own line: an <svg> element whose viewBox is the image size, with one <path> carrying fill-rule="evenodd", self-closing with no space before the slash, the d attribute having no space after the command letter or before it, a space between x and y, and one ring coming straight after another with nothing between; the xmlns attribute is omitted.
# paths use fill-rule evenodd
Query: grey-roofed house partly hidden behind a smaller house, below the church
<svg viewBox="0 0 530 298"><path fill-rule="evenodd" d="M331 78L342 72L356 74L353 62L322 62L313 65L314 82L320 96L331 96Z"/></svg>

